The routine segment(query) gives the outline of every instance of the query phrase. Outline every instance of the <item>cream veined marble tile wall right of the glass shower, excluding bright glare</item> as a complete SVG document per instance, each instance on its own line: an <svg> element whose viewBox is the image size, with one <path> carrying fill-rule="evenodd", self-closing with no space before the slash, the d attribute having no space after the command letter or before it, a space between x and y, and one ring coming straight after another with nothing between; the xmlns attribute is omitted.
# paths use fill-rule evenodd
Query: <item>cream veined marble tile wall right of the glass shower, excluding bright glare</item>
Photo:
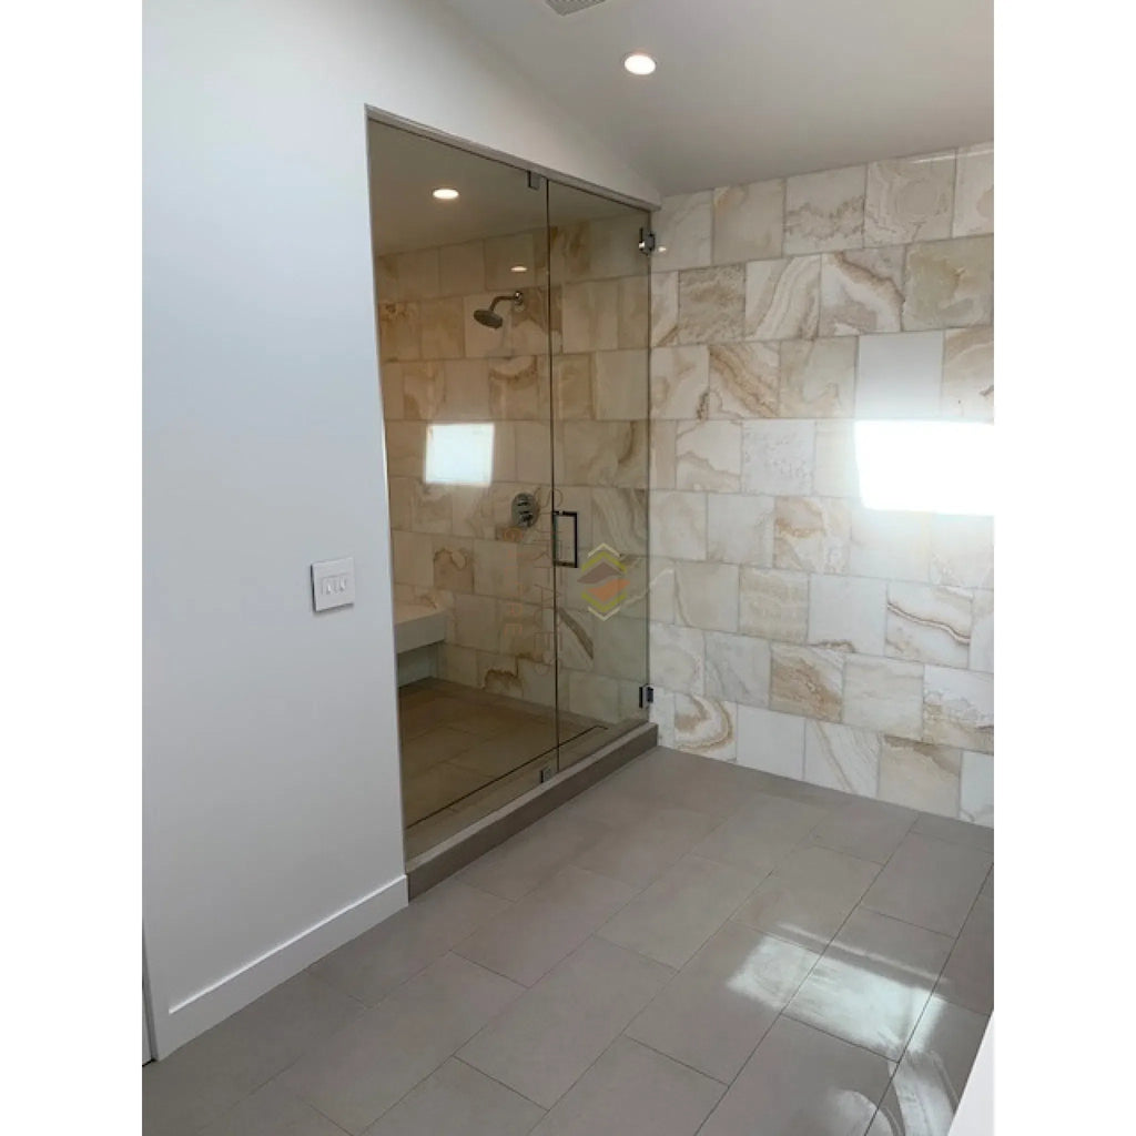
<svg viewBox="0 0 1136 1136"><path fill-rule="evenodd" d="M665 744L993 824L992 518L866 508L853 441L992 420L992 217L989 144L655 215Z"/></svg>

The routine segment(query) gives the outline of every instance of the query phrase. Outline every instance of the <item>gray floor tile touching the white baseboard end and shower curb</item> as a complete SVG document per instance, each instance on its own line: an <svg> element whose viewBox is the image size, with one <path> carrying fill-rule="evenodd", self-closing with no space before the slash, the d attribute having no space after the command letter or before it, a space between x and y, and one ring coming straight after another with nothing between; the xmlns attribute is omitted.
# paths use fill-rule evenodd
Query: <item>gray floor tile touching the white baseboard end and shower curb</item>
<svg viewBox="0 0 1136 1136"><path fill-rule="evenodd" d="M336 989L377 1005L508 907L499 895L448 879L308 969Z"/></svg>

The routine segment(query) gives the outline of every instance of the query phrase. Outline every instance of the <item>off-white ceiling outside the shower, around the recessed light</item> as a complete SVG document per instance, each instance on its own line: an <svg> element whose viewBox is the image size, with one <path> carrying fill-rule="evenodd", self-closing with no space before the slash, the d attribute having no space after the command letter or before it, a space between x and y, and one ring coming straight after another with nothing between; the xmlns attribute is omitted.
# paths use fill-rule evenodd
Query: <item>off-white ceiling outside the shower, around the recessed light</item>
<svg viewBox="0 0 1136 1136"><path fill-rule="evenodd" d="M444 2L663 193L994 134L992 0Z"/></svg>

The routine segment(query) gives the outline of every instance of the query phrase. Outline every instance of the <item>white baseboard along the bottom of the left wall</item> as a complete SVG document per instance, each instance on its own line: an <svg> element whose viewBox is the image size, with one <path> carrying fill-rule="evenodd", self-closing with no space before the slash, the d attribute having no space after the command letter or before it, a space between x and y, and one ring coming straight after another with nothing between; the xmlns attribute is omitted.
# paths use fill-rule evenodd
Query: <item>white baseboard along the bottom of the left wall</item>
<svg viewBox="0 0 1136 1136"><path fill-rule="evenodd" d="M173 1006L152 1006L154 1056L169 1056L174 1050L406 905L407 877L401 875L197 994Z"/></svg>

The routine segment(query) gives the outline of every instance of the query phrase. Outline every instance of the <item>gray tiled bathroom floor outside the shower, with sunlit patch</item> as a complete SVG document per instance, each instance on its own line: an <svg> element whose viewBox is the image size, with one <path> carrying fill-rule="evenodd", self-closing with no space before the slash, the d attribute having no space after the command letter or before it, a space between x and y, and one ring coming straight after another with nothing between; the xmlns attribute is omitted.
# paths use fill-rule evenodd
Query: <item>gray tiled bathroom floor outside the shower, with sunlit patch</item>
<svg viewBox="0 0 1136 1136"><path fill-rule="evenodd" d="M143 1071L147 1136L944 1136L993 833L657 749Z"/></svg>

